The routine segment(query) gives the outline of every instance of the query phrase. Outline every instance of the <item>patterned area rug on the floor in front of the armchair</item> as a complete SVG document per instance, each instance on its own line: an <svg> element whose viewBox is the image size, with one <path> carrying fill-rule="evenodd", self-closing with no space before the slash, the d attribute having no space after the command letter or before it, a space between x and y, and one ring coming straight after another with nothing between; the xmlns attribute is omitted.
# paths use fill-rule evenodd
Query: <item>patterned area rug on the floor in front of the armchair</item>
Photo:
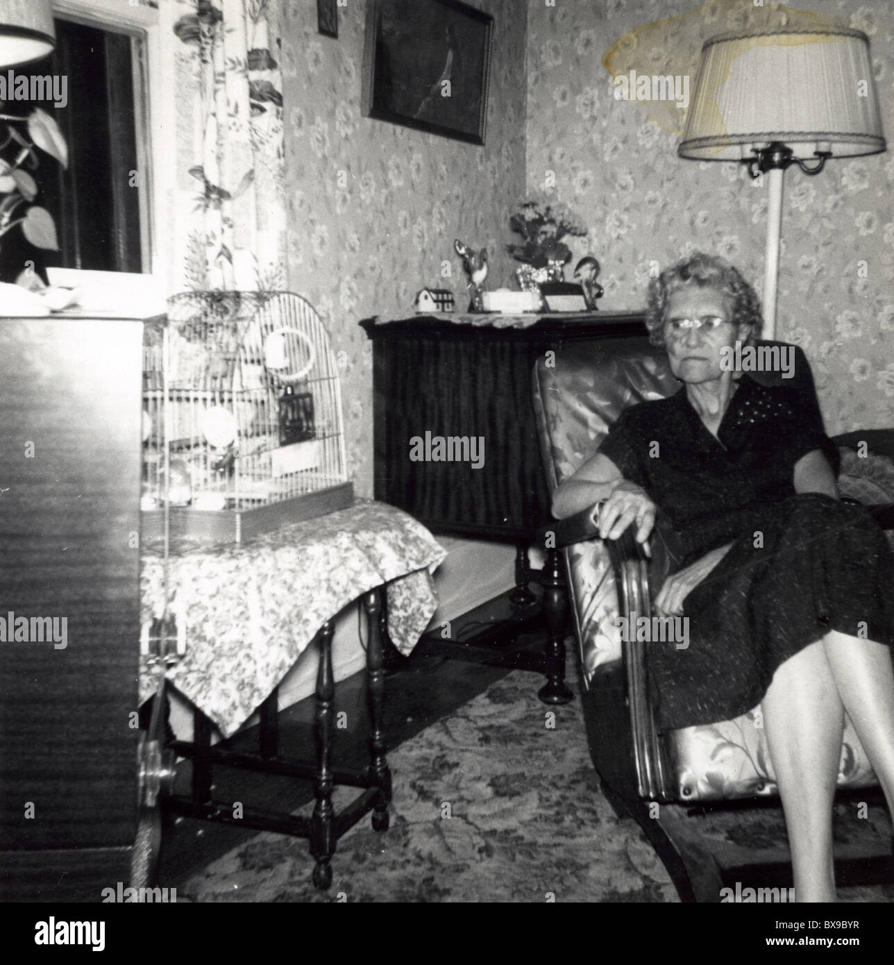
<svg viewBox="0 0 894 965"><path fill-rule="evenodd" d="M590 762L581 702L551 710L515 672L389 755L391 828L366 817L333 858L328 893L311 882L307 841L259 834L194 875L193 901L673 902L676 890L632 820L619 820ZM555 713L555 719L550 714ZM336 804L352 790L339 789ZM299 813L311 813L311 808ZM888 826L889 827L889 826ZM727 831L778 841L778 814ZM894 888L844 889L894 901Z"/></svg>

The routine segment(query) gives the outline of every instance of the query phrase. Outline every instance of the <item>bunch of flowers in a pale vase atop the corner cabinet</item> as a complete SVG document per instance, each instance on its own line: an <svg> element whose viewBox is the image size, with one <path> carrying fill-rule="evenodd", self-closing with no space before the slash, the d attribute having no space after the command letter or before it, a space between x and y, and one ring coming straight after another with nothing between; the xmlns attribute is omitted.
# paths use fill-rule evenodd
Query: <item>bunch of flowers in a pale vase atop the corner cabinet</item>
<svg viewBox="0 0 894 965"><path fill-rule="evenodd" d="M562 238L586 234L567 207L540 200L523 202L509 218L509 227L524 238L523 244L507 245L506 250L517 262L524 262L516 277L525 291L536 290L543 282L562 281L571 258Z"/></svg>

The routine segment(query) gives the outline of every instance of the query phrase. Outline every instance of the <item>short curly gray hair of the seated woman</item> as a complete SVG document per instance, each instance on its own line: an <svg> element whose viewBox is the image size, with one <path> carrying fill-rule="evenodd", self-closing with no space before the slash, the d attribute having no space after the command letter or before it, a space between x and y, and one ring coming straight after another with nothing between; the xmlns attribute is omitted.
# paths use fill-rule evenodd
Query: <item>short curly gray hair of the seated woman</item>
<svg viewBox="0 0 894 965"><path fill-rule="evenodd" d="M646 328L652 345L664 347L664 314L671 292L681 285L710 287L722 292L733 305L730 321L744 330L743 342L752 344L760 334L763 324L761 305L754 289L745 281L737 268L717 255L697 251L684 258L649 282Z"/></svg>

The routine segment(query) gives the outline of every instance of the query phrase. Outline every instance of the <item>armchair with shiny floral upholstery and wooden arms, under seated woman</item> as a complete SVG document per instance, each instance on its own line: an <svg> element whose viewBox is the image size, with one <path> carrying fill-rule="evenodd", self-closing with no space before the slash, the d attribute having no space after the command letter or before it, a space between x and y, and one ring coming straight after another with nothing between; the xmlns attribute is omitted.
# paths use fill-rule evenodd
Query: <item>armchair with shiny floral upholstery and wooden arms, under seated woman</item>
<svg viewBox="0 0 894 965"><path fill-rule="evenodd" d="M766 343L765 343L766 345ZM771 344L772 345L772 344ZM795 348L795 377L788 381L808 418L822 427L813 379ZM756 372L771 384L777 372ZM664 352L645 338L595 345L573 344L556 354L555 365L535 365L533 402L541 455L552 492L594 453L610 425L640 400L678 390ZM876 440L883 433L860 433ZM853 442L853 436L844 438ZM885 436L885 442L889 442ZM871 442L870 445L873 443ZM882 526L892 525L894 463L883 456L860 458L830 446L844 497L874 504ZM546 545L564 548L568 590L581 662L582 702L590 753L616 813L634 816L656 847L683 900L718 901L720 889L755 877L751 862L724 865L699 829L698 813L732 802L776 794L762 715L754 708L733 721L660 732L650 702L646 643L620 639L618 616L651 620L652 594L664 582L669 561L660 539L647 559L630 531L615 541L597 536L598 507L556 522L544 531ZM595 537L595 538L594 538ZM846 721L838 775L840 789L876 786L875 775ZM865 796L865 792L864 795ZM880 862L864 862L875 879ZM787 873L783 855L762 880L777 883Z"/></svg>

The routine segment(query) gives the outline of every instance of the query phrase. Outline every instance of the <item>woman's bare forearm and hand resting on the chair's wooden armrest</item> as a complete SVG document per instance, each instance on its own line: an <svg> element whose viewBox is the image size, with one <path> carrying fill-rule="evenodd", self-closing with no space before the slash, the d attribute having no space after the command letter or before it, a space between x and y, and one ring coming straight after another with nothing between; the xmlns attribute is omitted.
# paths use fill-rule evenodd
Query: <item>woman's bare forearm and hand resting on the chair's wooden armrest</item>
<svg viewBox="0 0 894 965"><path fill-rule="evenodd" d="M553 515L564 519L603 502L599 512L599 536L617 539L637 524L637 542L645 542L655 525L655 504L645 490L621 476L607 455L597 453L583 463L570 479L555 490Z"/></svg>

